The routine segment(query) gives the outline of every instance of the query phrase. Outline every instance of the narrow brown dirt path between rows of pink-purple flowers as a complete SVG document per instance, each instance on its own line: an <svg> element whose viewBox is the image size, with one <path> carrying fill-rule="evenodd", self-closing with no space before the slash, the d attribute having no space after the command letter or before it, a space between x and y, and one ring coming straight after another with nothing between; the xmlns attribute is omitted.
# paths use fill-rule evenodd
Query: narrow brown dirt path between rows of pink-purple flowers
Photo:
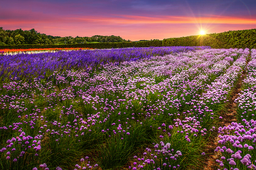
<svg viewBox="0 0 256 170"><path fill-rule="evenodd" d="M246 60L246 65L248 64L249 60ZM237 103L234 102L236 98L238 98L238 94L241 92L242 88L242 82L244 78L246 78L246 73L247 70L243 70L242 76L238 78L238 81L234 85L234 89L231 92L231 96L228 99L228 102L226 102L226 106L224 109L222 109L219 113L220 116L222 116L222 120L219 122L217 125L214 134L212 135L212 138L209 139L210 144L208 145L208 148L206 150L206 154L208 154L208 158L206 159L205 166L203 170L216 170L220 168L218 163L216 162L216 159L218 159L218 154L219 152L214 152L216 147L218 147L218 141L220 138L218 137L218 127L224 127L230 125L232 122L236 122L236 108L237 108Z"/></svg>

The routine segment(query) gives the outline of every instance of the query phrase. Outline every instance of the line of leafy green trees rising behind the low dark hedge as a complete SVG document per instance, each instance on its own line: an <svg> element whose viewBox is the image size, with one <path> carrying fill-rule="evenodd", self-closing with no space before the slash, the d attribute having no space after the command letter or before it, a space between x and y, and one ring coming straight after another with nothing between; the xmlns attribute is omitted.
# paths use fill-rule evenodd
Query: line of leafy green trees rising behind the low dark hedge
<svg viewBox="0 0 256 170"><path fill-rule="evenodd" d="M22 29L4 30L0 27L0 45L21 45L21 44L77 44L91 42L129 42L120 36L94 35L92 37L59 37L38 33L34 28L29 31Z"/></svg>

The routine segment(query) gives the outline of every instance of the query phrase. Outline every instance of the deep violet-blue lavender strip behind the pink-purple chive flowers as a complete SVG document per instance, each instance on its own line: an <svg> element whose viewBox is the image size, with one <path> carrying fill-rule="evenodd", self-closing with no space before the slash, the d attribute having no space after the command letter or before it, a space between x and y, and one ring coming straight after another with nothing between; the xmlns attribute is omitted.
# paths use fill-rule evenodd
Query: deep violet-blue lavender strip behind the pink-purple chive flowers
<svg viewBox="0 0 256 170"><path fill-rule="evenodd" d="M0 56L0 80L31 80L48 78L54 71L98 68L106 63L134 61L145 57L207 49L210 47L148 47L127 49L96 49L58 51L55 53Z"/></svg>

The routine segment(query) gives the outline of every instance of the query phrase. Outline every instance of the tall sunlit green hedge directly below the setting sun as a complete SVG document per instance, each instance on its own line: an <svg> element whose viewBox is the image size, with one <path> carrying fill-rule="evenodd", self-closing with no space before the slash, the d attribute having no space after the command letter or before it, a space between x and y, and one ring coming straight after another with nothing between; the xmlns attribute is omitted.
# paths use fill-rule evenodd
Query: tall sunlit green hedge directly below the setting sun
<svg viewBox="0 0 256 170"><path fill-rule="evenodd" d="M194 35L163 40L163 46L210 46L212 48L256 48L256 29Z"/></svg>

